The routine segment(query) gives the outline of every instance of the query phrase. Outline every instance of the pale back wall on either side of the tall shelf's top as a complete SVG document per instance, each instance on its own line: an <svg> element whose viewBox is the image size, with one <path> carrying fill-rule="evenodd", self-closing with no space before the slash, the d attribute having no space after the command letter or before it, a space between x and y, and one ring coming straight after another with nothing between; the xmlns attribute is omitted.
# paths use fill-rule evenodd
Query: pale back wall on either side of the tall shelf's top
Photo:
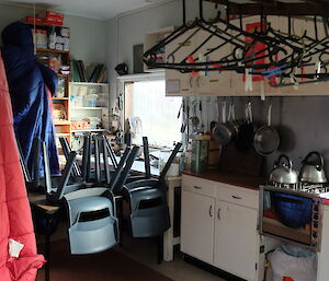
<svg viewBox="0 0 329 281"><path fill-rule="evenodd" d="M33 14L33 8L0 3L0 32L12 22ZM66 15L65 26L71 31L71 57L86 65L105 61L105 21Z"/></svg>

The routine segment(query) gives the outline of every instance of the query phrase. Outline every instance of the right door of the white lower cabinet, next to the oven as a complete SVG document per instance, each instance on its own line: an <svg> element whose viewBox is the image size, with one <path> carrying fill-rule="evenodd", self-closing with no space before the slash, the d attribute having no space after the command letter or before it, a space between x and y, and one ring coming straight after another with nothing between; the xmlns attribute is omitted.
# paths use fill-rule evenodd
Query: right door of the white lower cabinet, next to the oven
<svg viewBox="0 0 329 281"><path fill-rule="evenodd" d="M248 281L256 280L257 210L224 201L216 204L215 266Z"/></svg>

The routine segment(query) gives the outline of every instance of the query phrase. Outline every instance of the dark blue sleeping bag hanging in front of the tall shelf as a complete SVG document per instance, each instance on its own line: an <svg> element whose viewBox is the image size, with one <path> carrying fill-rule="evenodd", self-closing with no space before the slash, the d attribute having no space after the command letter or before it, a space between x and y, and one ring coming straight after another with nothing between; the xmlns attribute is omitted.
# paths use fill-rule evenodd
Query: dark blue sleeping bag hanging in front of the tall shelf
<svg viewBox="0 0 329 281"><path fill-rule="evenodd" d="M32 28L21 22L7 26L2 32L2 57L14 115L14 129L23 159L33 175L32 144L35 138L46 141L52 174L59 174L49 98L56 93L56 73L39 63L34 55ZM39 153L39 176L44 176Z"/></svg>

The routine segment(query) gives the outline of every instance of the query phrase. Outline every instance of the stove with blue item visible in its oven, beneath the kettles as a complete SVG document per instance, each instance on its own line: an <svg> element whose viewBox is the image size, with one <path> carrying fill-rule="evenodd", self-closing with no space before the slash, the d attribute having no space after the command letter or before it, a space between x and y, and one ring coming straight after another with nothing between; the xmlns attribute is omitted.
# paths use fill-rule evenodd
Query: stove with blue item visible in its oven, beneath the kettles
<svg viewBox="0 0 329 281"><path fill-rule="evenodd" d="M319 251L328 199L329 184L260 186L260 234Z"/></svg>

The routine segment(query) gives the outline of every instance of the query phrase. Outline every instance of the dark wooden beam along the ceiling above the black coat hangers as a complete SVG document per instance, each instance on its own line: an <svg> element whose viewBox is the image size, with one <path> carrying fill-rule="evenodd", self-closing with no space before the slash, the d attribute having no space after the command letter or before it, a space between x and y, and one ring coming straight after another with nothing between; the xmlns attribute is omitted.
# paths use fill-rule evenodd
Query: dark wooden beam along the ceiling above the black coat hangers
<svg viewBox="0 0 329 281"><path fill-rule="evenodd" d="M218 4L226 4L226 0L206 0ZM229 14L243 15L324 15L324 11L329 12L329 0L307 0L305 3L286 3L280 1L256 0L258 3L236 3L229 2Z"/></svg>

